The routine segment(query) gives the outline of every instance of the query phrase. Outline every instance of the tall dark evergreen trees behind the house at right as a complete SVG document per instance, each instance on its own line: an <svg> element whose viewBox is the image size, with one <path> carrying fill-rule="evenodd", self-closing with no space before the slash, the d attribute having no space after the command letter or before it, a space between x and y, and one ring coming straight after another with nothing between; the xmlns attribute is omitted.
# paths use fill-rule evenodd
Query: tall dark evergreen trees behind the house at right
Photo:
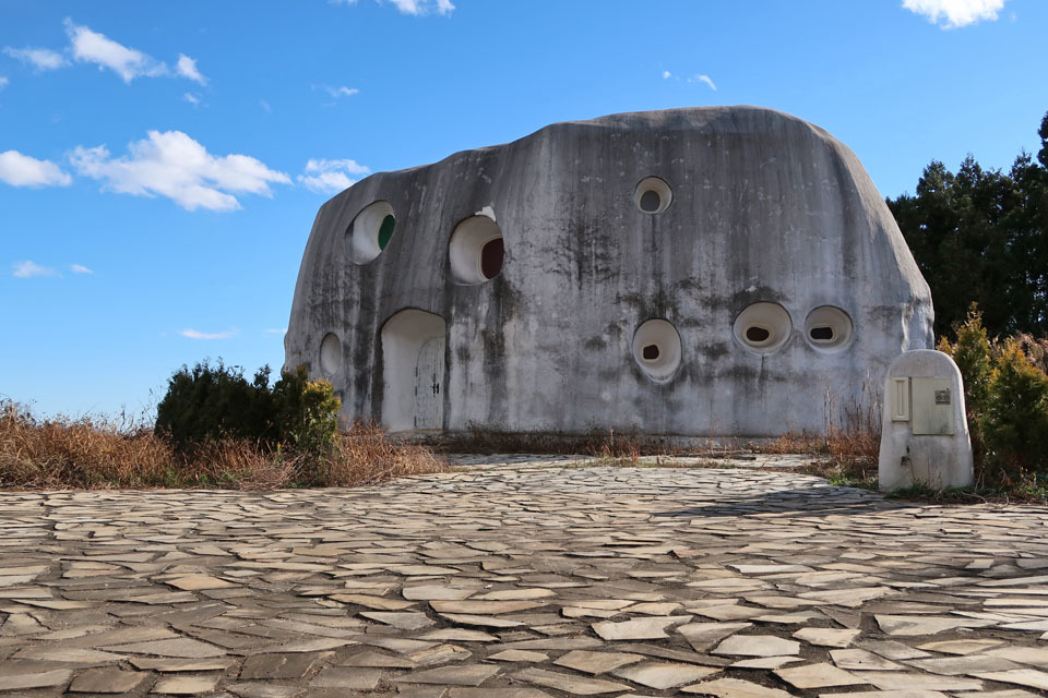
<svg viewBox="0 0 1048 698"><path fill-rule="evenodd" d="M932 160L914 195L886 198L931 287L936 335L977 303L990 336L1048 335L1048 113L1040 151L1009 171L968 155L956 173Z"/></svg>

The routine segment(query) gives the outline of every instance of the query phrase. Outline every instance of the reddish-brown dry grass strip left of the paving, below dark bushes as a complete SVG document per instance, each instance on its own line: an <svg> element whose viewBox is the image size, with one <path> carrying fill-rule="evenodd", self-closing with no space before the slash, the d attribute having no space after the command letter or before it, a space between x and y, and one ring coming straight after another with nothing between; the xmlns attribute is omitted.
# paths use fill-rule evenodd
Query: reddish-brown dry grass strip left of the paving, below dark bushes
<svg viewBox="0 0 1048 698"><path fill-rule="evenodd" d="M37 420L0 404L2 489L354 486L444 470L425 446L397 444L370 424L354 424L321 457L236 440L183 456L127 419Z"/></svg>

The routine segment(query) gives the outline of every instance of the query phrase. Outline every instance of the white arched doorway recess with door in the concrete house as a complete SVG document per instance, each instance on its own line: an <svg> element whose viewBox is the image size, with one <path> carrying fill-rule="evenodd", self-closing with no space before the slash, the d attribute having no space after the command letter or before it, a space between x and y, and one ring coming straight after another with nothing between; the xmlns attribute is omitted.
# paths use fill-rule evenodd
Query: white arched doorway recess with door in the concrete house
<svg viewBox="0 0 1048 698"><path fill-rule="evenodd" d="M382 326L382 425L391 431L443 429L444 318L402 310Z"/></svg>

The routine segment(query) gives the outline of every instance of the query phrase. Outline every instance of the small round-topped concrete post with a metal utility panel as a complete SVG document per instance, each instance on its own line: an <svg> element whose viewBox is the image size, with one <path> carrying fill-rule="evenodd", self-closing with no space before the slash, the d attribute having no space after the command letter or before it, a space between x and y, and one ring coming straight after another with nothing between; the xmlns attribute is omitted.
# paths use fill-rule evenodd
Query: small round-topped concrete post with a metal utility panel
<svg viewBox="0 0 1048 698"><path fill-rule="evenodd" d="M878 482L885 492L972 484L961 371L948 354L907 351L888 369Z"/></svg>

